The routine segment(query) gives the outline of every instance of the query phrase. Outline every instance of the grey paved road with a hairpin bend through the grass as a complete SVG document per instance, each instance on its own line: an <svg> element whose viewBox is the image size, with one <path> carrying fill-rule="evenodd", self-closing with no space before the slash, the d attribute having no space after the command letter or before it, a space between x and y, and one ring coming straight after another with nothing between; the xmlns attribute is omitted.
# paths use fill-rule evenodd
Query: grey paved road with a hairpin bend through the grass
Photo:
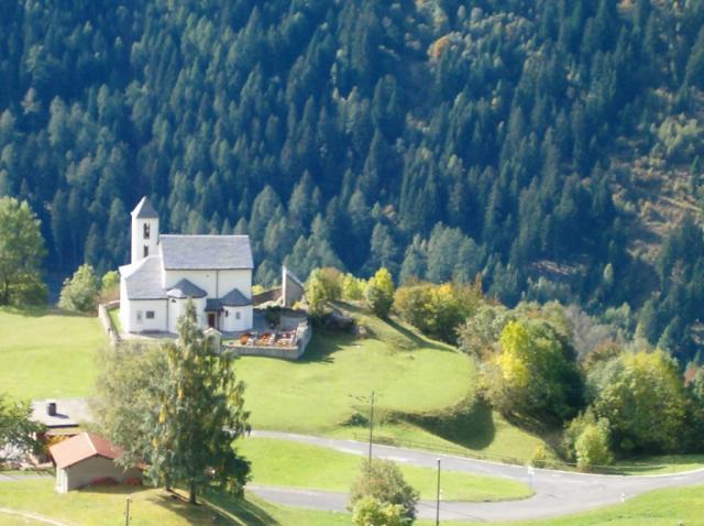
<svg viewBox="0 0 704 526"><path fill-rule="evenodd" d="M278 438L332 448L338 451L364 456L369 443L337 440L277 431L253 431L255 437ZM535 495L530 498L496 503L443 502L442 519L476 522L544 518L583 512L622 502L640 493L692 484L704 484L704 469L672 475L597 475L535 469L534 474L520 465L502 464L392 446L374 446L374 457L422 468L436 468L441 459L442 470L462 471L482 475L502 476L530 484ZM323 511L344 511L346 495L322 491L293 490L252 484L248 486L258 496L279 504ZM420 517L435 518L435 503L420 502ZM673 517L676 519L676 517Z"/></svg>

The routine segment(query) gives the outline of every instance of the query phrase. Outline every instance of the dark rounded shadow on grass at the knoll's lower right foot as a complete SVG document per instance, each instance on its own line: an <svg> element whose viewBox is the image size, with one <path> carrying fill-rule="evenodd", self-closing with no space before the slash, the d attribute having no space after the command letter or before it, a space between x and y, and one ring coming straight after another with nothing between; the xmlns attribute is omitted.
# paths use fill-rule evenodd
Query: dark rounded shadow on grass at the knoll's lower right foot
<svg viewBox="0 0 704 526"><path fill-rule="evenodd" d="M491 446L496 435L492 408L481 399L466 401L435 415L407 414L403 418L449 442L477 451Z"/></svg>

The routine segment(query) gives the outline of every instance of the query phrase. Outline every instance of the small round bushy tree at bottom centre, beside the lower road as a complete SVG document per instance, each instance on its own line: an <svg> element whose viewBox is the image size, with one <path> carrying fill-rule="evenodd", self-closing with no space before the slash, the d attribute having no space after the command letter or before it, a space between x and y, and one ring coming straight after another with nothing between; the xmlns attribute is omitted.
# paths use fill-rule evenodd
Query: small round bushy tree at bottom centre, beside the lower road
<svg viewBox="0 0 704 526"><path fill-rule="evenodd" d="M360 474L350 490L349 507L358 509L360 502L373 498L380 503L382 509L388 505L399 506L402 518L413 523L416 518L418 496L418 491L414 490L404 480L404 475L394 462L373 460L370 465L369 460L365 460L362 461ZM376 508L372 506L370 501L366 501L363 506ZM391 513L393 515L395 512L392 511Z"/></svg>

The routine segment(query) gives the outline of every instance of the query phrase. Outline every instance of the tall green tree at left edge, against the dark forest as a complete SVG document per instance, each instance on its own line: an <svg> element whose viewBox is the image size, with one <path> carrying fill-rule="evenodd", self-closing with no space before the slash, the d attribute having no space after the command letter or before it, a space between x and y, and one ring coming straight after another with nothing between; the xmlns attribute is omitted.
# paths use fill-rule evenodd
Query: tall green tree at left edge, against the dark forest
<svg viewBox="0 0 704 526"><path fill-rule="evenodd" d="M46 298L41 263L46 255L40 220L26 201L0 197L0 305Z"/></svg>

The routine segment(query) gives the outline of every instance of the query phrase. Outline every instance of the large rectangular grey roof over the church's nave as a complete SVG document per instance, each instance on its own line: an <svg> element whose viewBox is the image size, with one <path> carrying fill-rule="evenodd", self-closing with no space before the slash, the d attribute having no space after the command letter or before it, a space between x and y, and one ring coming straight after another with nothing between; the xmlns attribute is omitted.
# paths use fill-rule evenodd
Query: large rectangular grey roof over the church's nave
<svg viewBox="0 0 704 526"><path fill-rule="evenodd" d="M160 235L166 270L253 269L249 235Z"/></svg>

